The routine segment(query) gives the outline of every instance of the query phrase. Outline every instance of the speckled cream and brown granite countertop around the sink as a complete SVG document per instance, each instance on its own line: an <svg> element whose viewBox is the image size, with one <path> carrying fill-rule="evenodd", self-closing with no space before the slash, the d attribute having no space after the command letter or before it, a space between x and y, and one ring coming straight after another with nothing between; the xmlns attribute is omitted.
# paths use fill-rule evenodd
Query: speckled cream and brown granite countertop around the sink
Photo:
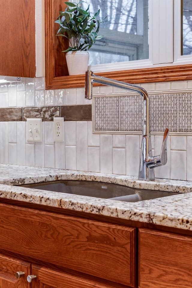
<svg viewBox="0 0 192 288"><path fill-rule="evenodd" d="M57 180L107 182L181 194L140 202L123 202L12 186ZM0 197L192 230L192 182L190 181L167 179L141 181L134 176L0 164Z"/></svg>

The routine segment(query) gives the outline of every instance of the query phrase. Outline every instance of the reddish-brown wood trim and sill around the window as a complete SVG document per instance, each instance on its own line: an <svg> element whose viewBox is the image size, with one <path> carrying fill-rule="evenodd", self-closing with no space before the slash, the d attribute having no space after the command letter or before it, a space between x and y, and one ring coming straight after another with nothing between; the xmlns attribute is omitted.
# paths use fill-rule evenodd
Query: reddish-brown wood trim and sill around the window
<svg viewBox="0 0 192 288"><path fill-rule="evenodd" d="M66 38L57 37L58 25L54 23L65 6L62 0L45 0L45 82L46 89L78 88L85 86L85 75L69 76L65 53ZM62 39L61 39L62 38ZM100 76L128 83L182 81L192 79L192 64L168 67L142 68L97 73ZM97 84L99 85L99 84Z"/></svg>

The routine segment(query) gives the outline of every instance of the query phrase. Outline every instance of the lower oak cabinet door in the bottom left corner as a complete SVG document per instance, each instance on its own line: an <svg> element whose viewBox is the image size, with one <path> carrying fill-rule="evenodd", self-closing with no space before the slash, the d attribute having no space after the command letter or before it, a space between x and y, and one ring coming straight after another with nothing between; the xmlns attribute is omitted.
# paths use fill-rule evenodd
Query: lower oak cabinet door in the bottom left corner
<svg viewBox="0 0 192 288"><path fill-rule="evenodd" d="M29 274L29 263L0 254L1 288L29 288L30 283L27 282Z"/></svg>

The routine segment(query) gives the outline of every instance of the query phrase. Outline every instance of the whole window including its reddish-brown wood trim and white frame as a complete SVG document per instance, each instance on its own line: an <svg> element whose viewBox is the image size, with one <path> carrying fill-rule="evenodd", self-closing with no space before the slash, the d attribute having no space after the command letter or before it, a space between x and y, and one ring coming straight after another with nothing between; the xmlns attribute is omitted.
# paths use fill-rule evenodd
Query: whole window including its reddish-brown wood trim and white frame
<svg viewBox="0 0 192 288"><path fill-rule="evenodd" d="M70 0L72 1L72 0ZM78 0L74 0L78 1ZM106 0L86 0L94 3L107 3ZM108 0L110 1L110 0ZM120 1L120 0L119 0ZM122 1L122 5L128 0ZM102 50L102 45L98 45L98 51L93 51L92 53L104 52L104 58L108 55L109 61L100 60L101 64L92 64L89 66L94 73L101 73L105 77L113 78L116 80L123 80L130 83L144 83L144 82L162 82L162 81L176 81L176 80L186 80L192 79L191 69L192 69L192 55L185 55L185 46L190 44L189 35L187 29L191 30L189 25L191 21L191 16L189 17L191 11L191 0L129 0L133 3L132 12L130 11L130 19L132 17L132 22L130 20L128 34L133 30L132 40L135 38L135 42L129 42L125 45L125 39L123 37L117 37L123 40L122 47L120 48L120 41L112 43L114 36L116 34L121 35L124 33L117 29L115 33L112 33L113 37L110 35L109 40L111 40L110 45L108 45L105 51ZM138 6L138 3L143 2L142 5ZM148 8L145 10L146 2L149 4ZM113 3L118 4L118 0L113 0ZM127 2L126 2L127 3ZM57 27L55 26L55 19L58 16L58 11L63 7L63 0L45 0L45 60L46 60L46 88L47 89L59 89L59 88L77 88L84 86L84 75L78 76L78 81L76 77L68 76L67 69L65 69L65 57L64 53L61 53L61 49L67 48L67 43L61 44L59 37L55 37ZM127 4L126 4L127 5ZM124 5L124 7L126 6ZM131 5L131 4L129 4ZM130 6L129 6L130 7ZM135 8L136 7L136 8ZM137 9L138 8L138 9ZM184 10L183 10L184 9ZM94 8L94 11L96 9ZM114 9L115 10L115 9ZM147 11L148 10L148 11ZM141 12L142 11L142 12ZM183 13L182 13L183 11ZM123 11L124 12L124 11ZM148 13L147 13L148 12ZM149 25L144 27L142 23L146 22L143 20L135 22L136 18L143 17L147 18L149 16ZM127 15L127 14L126 14ZM128 15L127 15L128 16ZM186 18L188 17L188 18ZM113 17L112 17L113 19ZM181 25L183 20L183 25ZM188 22L187 22L188 20ZM189 21L190 20L190 21ZM118 22L119 23L119 22ZM133 27L136 23L137 27ZM188 26L186 26L186 24ZM139 25L139 26L138 26ZM117 25L116 25L117 26ZM125 23L121 25L125 30ZM122 29L121 27L121 29ZM106 28L102 28L106 29ZM141 31L143 30L143 33ZM55 31L55 32L53 32ZM114 30L111 30L112 32ZM135 34L135 32L137 33ZM140 31L140 32L139 32ZM144 33L145 31L145 33ZM186 35L185 35L186 32ZM145 41L140 41L140 34L147 35ZM107 35L109 36L109 35ZM137 37L139 36L139 37ZM190 36L191 37L191 36ZM131 38L131 37L130 37ZM187 42L183 39L187 39ZM126 39L127 41L127 39ZM149 45L148 45L149 44ZM95 48L96 48L96 45ZM115 46L117 45L117 46ZM145 45L145 49L142 48ZM185 46L184 46L185 45ZM61 47L62 46L62 47ZM93 46L93 48L94 48ZM123 47L125 46L126 51L123 52ZM140 47L141 53L139 51ZM183 46L183 47L182 47ZM115 47L118 47L120 53L116 53ZM132 49L132 52L131 52ZM106 53L107 52L107 53ZM143 55L142 55L143 54ZM136 55L137 59L136 60ZM145 55L145 56L144 56ZM146 55L149 55L148 57ZM116 58L116 62L112 59L112 56ZM103 56L102 56L103 57ZM123 59L121 57L127 57ZM119 58L119 59L118 59ZM129 60L129 61L127 61ZM105 61L102 62L102 61ZM119 62L120 61L120 62ZM103 64L102 64L103 63ZM166 67L166 68L164 68ZM181 70L182 69L182 70ZM121 72L119 72L121 71ZM182 72L181 72L182 71Z"/></svg>

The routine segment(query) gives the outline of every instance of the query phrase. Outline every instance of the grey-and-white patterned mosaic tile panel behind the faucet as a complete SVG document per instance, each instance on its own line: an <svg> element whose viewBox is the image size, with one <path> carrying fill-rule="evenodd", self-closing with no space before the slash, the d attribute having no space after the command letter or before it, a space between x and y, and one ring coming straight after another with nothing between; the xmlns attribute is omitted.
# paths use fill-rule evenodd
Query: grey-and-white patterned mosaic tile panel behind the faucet
<svg viewBox="0 0 192 288"><path fill-rule="evenodd" d="M192 133L192 92L157 93L150 97L152 132ZM93 131L95 133L141 132L143 125L143 100L140 95L96 95L93 99Z"/></svg>

